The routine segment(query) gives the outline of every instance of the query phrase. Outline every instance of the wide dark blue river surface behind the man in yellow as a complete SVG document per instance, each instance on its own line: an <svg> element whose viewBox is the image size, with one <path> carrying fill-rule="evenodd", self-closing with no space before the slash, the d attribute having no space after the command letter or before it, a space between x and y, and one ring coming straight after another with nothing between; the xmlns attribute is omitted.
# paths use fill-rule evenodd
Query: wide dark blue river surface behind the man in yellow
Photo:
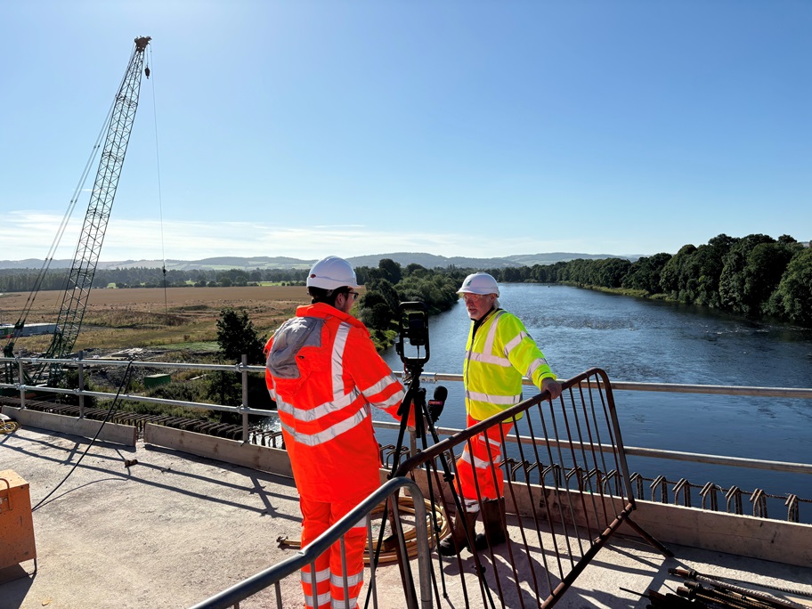
<svg viewBox="0 0 812 609"><path fill-rule="evenodd" d="M615 381L812 386L809 329L567 286L499 288L502 307L524 321L561 379L597 367ZM429 318L430 357L424 372L462 373L469 325L461 301ZM392 369L403 369L394 348L383 355ZM434 386L424 386L431 398ZM443 386L449 398L437 425L464 426L462 384ZM627 446L812 464L812 400L617 391L614 397ZM676 482L684 477L699 485L736 484L746 491L760 488L812 499L812 475L632 457L629 468L646 478L665 475ZM801 522L810 522L812 503L800 509Z"/></svg>

